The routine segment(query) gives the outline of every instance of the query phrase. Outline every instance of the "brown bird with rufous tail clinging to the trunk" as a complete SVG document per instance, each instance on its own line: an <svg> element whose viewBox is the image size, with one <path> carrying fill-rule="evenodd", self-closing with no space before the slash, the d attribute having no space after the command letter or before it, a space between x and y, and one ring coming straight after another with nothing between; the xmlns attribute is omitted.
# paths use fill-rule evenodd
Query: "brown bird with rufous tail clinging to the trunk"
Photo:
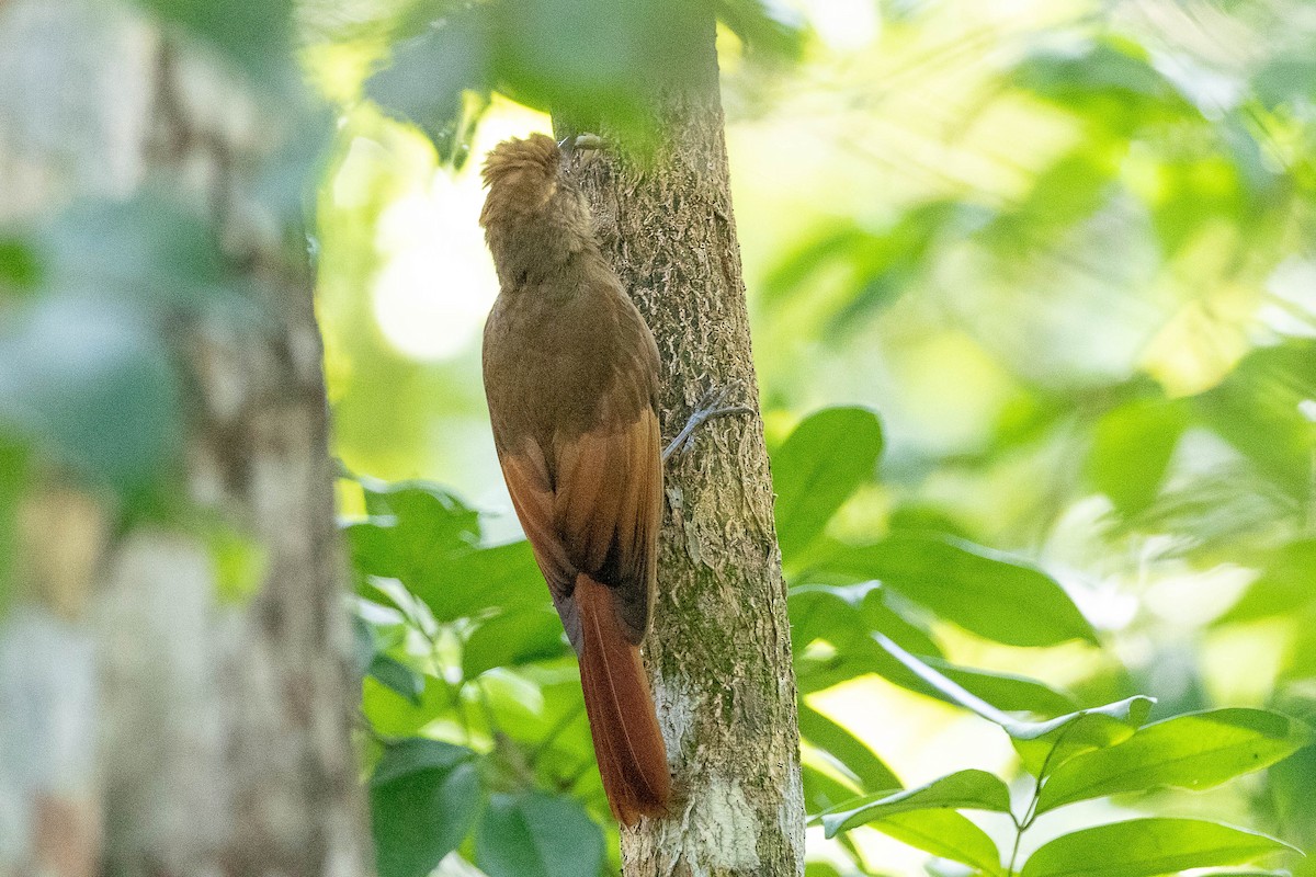
<svg viewBox="0 0 1316 877"><path fill-rule="evenodd" d="M579 659L609 809L634 826L671 797L640 652L662 521L659 355L569 159L533 134L484 162L480 225L499 279L484 393L513 509Z"/></svg>

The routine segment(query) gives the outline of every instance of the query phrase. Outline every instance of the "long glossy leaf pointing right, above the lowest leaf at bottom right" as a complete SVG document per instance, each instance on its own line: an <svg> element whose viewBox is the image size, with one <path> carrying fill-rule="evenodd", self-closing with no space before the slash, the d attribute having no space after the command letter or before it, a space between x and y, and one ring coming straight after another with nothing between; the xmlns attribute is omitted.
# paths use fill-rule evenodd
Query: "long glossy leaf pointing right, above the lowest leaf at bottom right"
<svg viewBox="0 0 1316 877"><path fill-rule="evenodd" d="M1178 715L1057 768L1042 786L1037 813L1157 786L1209 789L1286 759L1311 742L1305 726L1267 710Z"/></svg>

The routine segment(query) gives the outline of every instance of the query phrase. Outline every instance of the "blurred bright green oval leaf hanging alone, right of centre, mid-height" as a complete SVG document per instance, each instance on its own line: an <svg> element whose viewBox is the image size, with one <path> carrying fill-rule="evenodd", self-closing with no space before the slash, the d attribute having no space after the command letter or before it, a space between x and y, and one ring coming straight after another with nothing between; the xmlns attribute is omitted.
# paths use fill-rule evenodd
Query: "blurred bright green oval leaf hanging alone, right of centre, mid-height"
<svg viewBox="0 0 1316 877"><path fill-rule="evenodd" d="M1155 500L1170 455L1188 426L1178 402L1137 401L1109 412L1096 425L1088 475L1125 517Z"/></svg>

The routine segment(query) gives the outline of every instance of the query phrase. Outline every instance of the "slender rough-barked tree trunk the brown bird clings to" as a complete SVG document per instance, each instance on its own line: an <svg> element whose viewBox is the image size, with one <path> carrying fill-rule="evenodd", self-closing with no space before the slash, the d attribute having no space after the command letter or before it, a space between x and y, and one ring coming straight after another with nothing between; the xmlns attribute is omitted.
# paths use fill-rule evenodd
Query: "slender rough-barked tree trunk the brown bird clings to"
<svg viewBox="0 0 1316 877"><path fill-rule="evenodd" d="M790 622L711 13L699 33L704 63L665 93L654 154L641 162L609 149L580 170L604 250L658 339L663 434L675 435L709 388L755 410L711 422L667 464L646 657L675 805L670 818L624 832L622 855L629 877L800 874Z"/></svg>

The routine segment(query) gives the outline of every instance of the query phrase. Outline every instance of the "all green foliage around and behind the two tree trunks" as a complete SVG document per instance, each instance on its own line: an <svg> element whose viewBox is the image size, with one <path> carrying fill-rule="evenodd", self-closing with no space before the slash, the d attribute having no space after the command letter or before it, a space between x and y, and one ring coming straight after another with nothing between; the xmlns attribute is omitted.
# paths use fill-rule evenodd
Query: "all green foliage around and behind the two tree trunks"
<svg viewBox="0 0 1316 877"><path fill-rule="evenodd" d="M257 191L316 192L380 873L615 873L487 435L468 159L525 107L642 142L700 34L657 0L255 5L141 4L296 120ZM716 11L811 877L1316 874L1316 9ZM0 237L0 492L58 463L164 514L164 318L258 320L215 230L79 204Z"/></svg>

